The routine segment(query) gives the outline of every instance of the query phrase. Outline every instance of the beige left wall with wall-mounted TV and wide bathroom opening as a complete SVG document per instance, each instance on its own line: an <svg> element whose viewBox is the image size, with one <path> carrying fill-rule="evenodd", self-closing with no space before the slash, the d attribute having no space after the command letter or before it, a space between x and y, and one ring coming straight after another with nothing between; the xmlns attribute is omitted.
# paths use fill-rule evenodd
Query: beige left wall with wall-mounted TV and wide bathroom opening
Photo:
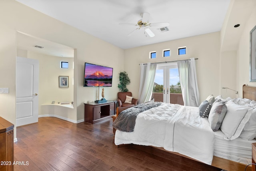
<svg viewBox="0 0 256 171"><path fill-rule="evenodd" d="M5 73L1 76L0 87L9 87L8 94L0 94L1 117L16 123L17 31L75 49L74 105L77 107L77 120L84 118L84 102L96 100L98 91L97 87L83 87L84 62L114 68L113 86L106 87L105 98L117 98L118 73L124 70L124 50L28 8L15 0L0 1L0 21L0 72ZM16 137L16 127L14 131L14 137Z"/></svg>

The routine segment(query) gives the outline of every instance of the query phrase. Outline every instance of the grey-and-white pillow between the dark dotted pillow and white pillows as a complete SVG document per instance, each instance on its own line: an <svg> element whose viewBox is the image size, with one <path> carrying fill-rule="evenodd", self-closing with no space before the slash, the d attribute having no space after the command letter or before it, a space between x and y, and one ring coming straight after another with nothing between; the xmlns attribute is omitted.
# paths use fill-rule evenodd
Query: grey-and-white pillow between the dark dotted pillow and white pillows
<svg viewBox="0 0 256 171"><path fill-rule="evenodd" d="M209 113L208 121L213 131L218 131L218 129L220 129L220 125L222 124L226 112L226 104L221 103L220 101L215 101L212 104L212 109Z"/></svg>

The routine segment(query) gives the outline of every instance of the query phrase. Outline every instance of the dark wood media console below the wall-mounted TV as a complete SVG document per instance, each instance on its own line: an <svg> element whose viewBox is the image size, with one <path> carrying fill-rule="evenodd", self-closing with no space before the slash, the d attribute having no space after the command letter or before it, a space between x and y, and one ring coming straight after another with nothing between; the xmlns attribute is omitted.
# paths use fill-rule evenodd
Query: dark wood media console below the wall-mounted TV
<svg viewBox="0 0 256 171"><path fill-rule="evenodd" d="M116 100L107 100L105 103L84 103L84 121L97 123L111 118L116 114Z"/></svg>

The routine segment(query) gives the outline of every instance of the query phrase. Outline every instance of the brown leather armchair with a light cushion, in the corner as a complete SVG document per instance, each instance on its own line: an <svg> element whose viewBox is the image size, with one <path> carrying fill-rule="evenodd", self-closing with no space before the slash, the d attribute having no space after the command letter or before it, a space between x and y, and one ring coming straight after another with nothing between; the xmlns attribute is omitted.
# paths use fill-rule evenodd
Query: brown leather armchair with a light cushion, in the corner
<svg viewBox="0 0 256 171"><path fill-rule="evenodd" d="M130 99L129 97L126 98L126 95L129 96ZM119 107L132 106L138 103L138 99L132 98L132 92L118 92L117 97Z"/></svg>

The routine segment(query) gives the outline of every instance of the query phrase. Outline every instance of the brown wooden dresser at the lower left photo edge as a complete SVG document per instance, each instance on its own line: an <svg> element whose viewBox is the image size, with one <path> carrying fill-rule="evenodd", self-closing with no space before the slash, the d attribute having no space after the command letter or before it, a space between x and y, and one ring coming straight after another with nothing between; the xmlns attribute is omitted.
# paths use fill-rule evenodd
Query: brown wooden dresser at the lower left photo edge
<svg viewBox="0 0 256 171"><path fill-rule="evenodd" d="M14 125L0 117L0 171L13 171L14 161Z"/></svg>

